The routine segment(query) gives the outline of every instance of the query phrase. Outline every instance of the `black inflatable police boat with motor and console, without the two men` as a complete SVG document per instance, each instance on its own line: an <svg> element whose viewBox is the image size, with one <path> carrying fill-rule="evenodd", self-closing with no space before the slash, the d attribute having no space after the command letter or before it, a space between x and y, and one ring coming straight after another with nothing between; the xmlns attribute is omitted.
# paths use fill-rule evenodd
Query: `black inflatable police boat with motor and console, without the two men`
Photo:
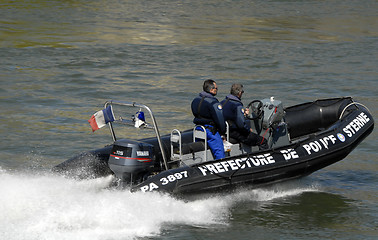
<svg viewBox="0 0 378 240"><path fill-rule="evenodd" d="M116 108L131 108L134 115L125 118L119 114L125 111L116 113ZM105 109L110 110L111 116L106 116L105 110L102 114L113 143L81 153L53 170L79 178L112 174L117 186L132 192L192 194L246 185L258 187L303 177L342 160L374 128L368 108L351 97L321 99L286 108L271 97L254 100L248 108L252 129L268 141L269 148L259 150L238 143L228 137L227 130L226 157L215 161L203 127L174 129L160 136L149 107L135 102L107 101ZM131 125L138 131L151 129L155 137L117 139L115 125Z"/></svg>

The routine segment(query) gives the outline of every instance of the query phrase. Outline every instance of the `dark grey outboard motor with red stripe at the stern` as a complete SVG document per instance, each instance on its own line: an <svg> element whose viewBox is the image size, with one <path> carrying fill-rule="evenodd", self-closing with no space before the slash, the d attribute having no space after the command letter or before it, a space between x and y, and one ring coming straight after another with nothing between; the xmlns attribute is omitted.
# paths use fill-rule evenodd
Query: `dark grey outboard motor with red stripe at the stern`
<svg viewBox="0 0 378 240"><path fill-rule="evenodd" d="M114 142L109 167L121 184L135 184L153 171L155 157L153 145L132 140Z"/></svg>

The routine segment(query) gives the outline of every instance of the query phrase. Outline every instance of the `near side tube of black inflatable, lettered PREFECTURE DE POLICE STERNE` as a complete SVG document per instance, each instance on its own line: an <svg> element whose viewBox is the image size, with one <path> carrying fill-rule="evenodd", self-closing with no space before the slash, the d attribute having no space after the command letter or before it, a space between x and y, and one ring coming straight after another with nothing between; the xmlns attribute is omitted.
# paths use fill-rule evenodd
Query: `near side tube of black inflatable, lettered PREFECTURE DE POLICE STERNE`
<svg viewBox="0 0 378 240"><path fill-rule="evenodd" d="M373 128L372 116L361 107L291 145L163 171L131 190L201 193L302 177L345 158Z"/></svg>

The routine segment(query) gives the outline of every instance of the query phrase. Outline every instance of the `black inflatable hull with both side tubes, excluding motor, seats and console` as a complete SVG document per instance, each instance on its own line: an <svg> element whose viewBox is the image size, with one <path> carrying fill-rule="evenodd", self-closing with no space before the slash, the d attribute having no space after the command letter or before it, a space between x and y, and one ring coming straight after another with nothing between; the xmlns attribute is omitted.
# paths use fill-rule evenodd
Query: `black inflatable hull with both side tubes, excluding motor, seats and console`
<svg viewBox="0 0 378 240"><path fill-rule="evenodd" d="M284 136L289 139L290 135L290 141L273 145L268 150L249 152L240 151L243 146L236 144L233 146L240 146L236 154L217 161L187 166L185 161L180 160L178 165L181 167L162 170L162 151L166 155L171 154L171 136L161 137L163 148L159 148L156 138L141 139L140 142L153 146L154 170L146 172L134 182L120 179L121 186L130 187L132 192L193 194L244 185L259 187L299 178L344 159L374 129L374 119L369 110L350 97L317 100L289 107L285 112L285 126L289 132ZM193 131L182 132L181 139L183 143L193 143ZM128 143L131 140L119 141ZM53 170L76 178L114 174L109 167L109 158L119 141L84 152L55 166ZM194 156L194 152L191 154Z"/></svg>

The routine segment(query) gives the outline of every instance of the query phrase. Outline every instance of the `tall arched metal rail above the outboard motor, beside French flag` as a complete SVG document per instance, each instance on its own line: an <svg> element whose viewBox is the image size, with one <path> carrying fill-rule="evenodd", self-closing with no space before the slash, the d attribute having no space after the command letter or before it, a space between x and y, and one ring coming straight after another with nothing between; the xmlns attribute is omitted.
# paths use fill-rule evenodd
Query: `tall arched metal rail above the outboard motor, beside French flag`
<svg viewBox="0 0 378 240"><path fill-rule="evenodd" d="M163 144L162 144L162 141L161 141L161 138L160 138L160 133L159 133L159 129L158 129L158 126L157 126L157 123L156 123L156 120L155 120L155 116L152 113L151 109L149 107L147 107L146 105L139 104L139 103L136 103L136 102L115 102L115 101L112 101L112 100L105 102L105 108L108 105L112 105L112 104L120 105L120 106L127 106L127 107L144 108L148 111L148 113L150 114L151 120L152 120L152 124L154 126L155 134L156 134L156 137L157 137L157 140L158 140L158 143L159 143L159 147L160 147L160 150L161 150L161 155L162 155L163 160L164 160L165 169L168 170L167 157L165 155ZM114 133L112 123L109 123L109 128L110 128L110 133L112 135L113 141L116 141L117 138L116 138L116 135Z"/></svg>

